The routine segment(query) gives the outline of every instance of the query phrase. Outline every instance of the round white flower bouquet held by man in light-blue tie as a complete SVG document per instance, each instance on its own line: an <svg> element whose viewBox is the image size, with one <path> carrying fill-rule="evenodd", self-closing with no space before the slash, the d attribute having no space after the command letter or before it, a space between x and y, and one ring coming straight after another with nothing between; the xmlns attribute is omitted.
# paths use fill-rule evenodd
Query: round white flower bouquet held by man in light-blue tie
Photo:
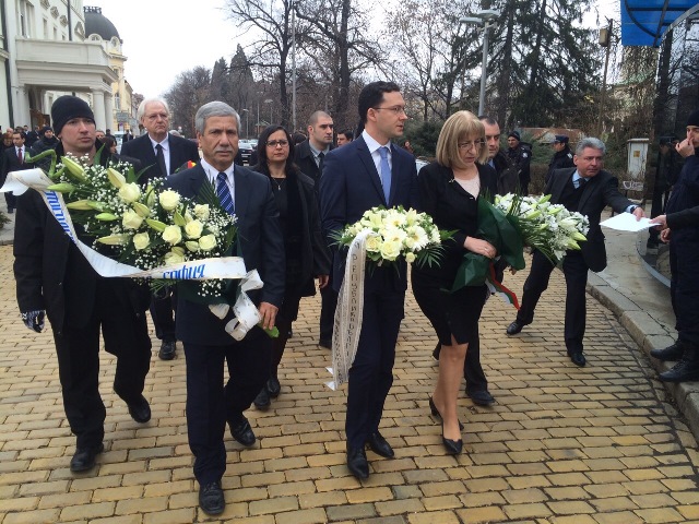
<svg viewBox="0 0 699 524"><path fill-rule="evenodd" d="M367 235L367 260L376 266L400 260L433 265L441 257L441 242L453 236L439 230L431 216L402 206L372 207L334 238L337 246L348 247L360 234Z"/></svg>

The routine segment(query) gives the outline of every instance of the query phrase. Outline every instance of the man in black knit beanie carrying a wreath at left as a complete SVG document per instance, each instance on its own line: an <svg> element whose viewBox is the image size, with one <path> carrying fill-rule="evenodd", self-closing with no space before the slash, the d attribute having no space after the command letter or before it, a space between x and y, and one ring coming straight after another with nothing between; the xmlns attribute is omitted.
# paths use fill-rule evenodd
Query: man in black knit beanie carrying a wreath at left
<svg viewBox="0 0 699 524"><path fill-rule="evenodd" d="M51 118L61 140L58 156L86 156L92 163L102 144L95 140L95 119L87 103L61 96L51 107ZM100 158L103 165L114 160L109 155ZM91 238L83 241L92 243ZM127 403L133 420L151 419L143 397L151 361L145 320L149 289L130 278L98 276L33 189L17 199L14 276L26 326L40 332L45 312L51 324L63 408L76 437L70 468L91 469L104 451L105 436L106 410L98 389L100 331L105 349L117 357L114 391Z"/></svg>

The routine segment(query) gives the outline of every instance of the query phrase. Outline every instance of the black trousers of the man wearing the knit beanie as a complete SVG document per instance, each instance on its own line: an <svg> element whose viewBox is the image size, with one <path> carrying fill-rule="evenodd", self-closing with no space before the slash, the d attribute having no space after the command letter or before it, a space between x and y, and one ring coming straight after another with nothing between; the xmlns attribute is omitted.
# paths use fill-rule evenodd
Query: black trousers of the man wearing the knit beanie
<svg viewBox="0 0 699 524"><path fill-rule="evenodd" d="M99 395L99 330L105 349L117 357L114 391L126 402L143 393L151 366L151 338L145 312L137 317L99 286L92 315L83 327L54 326L63 408L78 448L99 445L105 430L105 405ZM61 334L58 334L58 333Z"/></svg>

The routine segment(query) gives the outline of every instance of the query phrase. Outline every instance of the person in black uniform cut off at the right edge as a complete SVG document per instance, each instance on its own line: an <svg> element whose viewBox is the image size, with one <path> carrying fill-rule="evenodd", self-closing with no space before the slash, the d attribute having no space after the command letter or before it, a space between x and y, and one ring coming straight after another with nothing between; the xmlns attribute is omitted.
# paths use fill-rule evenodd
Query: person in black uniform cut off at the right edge
<svg viewBox="0 0 699 524"><path fill-rule="evenodd" d="M679 360L660 373L663 382L699 380L699 109L687 119L687 138L675 146L685 166L675 183L665 214L653 218L670 241L670 296L677 320L677 342L651 350L659 360Z"/></svg>

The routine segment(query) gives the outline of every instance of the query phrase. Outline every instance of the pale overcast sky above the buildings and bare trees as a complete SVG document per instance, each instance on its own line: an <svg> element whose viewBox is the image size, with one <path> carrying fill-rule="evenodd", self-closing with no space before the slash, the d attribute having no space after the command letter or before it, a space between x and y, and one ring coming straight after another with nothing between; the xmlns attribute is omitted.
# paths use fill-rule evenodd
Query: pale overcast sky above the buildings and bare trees
<svg viewBox="0 0 699 524"><path fill-rule="evenodd" d="M599 0L603 15L618 12L619 0ZM225 0L84 0L85 5L102 8L102 14L117 27L123 41L126 78L134 93L146 98L161 96L177 75L197 66L213 68L220 58L226 61L241 32L227 20ZM595 15L585 17L594 25ZM602 24L606 25L604 17Z"/></svg>

